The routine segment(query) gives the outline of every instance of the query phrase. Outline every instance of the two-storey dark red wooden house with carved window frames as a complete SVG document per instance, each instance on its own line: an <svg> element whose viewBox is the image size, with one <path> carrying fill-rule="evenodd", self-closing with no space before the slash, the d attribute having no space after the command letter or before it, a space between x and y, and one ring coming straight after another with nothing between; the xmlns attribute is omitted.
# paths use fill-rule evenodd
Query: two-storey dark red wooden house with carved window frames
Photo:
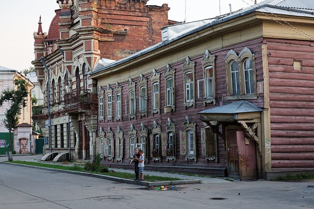
<svg viewBox="0 0 314 209"><path fill-rule="evenodd" d="M314 170L307 2L167 26L159 44L94 69L102 164L128 168L139 147L148 170L239 179Z"/></svg>

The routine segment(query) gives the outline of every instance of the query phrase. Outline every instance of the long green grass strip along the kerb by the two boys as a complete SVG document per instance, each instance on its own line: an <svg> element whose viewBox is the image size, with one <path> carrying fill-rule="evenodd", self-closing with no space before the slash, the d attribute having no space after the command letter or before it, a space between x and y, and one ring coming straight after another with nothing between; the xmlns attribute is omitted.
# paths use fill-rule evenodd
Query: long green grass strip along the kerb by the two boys
<svg viewBox="0 0 314 209"><path fill-rule="evenodd" d="M22 165L32 165L32 166L44 167L44 168L54 168L54 169L60 169L60 170L88 172L88 173L108 175L108 176L114 176L114 177L123 178L123 179L130 179L130 180L135 179L135 174L131 174L131 173L112 172L112 170L109 170L109 172L106 172L106 173L101 173L101 172L96 172L96 171L90 172L90 171L85 171L83 167L80 167L78 165L64 166L64 165L36 163L36 162L29 162L29 161L22 161L22 160L14 160L14 161L6 161L6 162L22 164ZM149 182L154 182L154 181L177 181L177 180L183 180L183 179L172 178L172 177L162 177L162 176L155 176L155 175L145 175L145 172L144 172L144 180L149 181Z"/></svg>

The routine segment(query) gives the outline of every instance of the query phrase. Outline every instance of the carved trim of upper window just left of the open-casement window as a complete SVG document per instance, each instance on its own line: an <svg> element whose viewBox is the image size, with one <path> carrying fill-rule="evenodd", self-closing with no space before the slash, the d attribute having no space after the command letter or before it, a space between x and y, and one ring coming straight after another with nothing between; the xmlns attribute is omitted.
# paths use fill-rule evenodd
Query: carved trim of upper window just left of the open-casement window
<svg viewBox="0 0 314 209"><path fill-rule="evenodd" d="M194 61L191 61L190 58L187 56L185 58L185 62L183 63L182 66L182 70L183 70L183 98L184 98L184 108L187 108L187 107L195 107L195 62ZM193 92L193 100L192 101L189 101L187 102L187 93L186 93L186 79L185 79L185 75L186 73L188 72L192 72L192 92Z"/></svg>

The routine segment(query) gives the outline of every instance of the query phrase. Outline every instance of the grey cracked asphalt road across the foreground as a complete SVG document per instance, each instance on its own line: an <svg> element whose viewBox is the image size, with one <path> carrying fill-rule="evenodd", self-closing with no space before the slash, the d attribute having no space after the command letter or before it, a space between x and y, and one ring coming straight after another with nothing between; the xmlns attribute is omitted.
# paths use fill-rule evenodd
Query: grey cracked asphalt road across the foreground
<svg viewBox="0 0 314 209"><path fill-rule="evenodd" d="M314 208L311 185L314 181L225 181L155 191L94 177L0 164L0 208Z"/></svg>

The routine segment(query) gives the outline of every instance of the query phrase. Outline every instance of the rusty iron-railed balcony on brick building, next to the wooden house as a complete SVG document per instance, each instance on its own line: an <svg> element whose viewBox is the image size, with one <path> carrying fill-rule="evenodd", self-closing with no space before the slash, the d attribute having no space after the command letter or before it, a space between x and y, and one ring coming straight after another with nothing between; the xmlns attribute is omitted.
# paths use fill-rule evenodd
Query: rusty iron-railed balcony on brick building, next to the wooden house
<svg viewBox="0 0 314 209"><path fill-rule="evenodd" d="M97 93L90 90L77 90L64 95L64 111L67 113L87 112L95 110L97 114Z"/></svg>

